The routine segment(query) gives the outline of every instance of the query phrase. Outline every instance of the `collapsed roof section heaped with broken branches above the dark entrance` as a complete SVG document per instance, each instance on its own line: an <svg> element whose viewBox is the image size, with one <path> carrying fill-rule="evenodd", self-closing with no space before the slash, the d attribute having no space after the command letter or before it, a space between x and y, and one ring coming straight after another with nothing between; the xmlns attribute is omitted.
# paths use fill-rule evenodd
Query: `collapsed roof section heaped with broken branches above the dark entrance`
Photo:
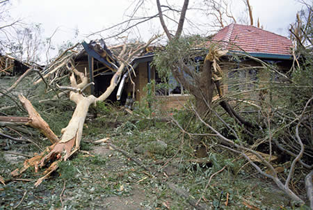
<svg viewBox="0 0 313 210"><path fill-rule="evenodd" d="M42 79L45 79L47 83L53 82L62 85L64 81L61 79L70 74L68 68L74 66L79 72L86 74L90 82L95 83L94 86L89 86L85 91L95 96L102 95L106 88L110 86L111 79L121 63L125 63L125 67L122 70L124 75L120 80L116 81L118 86L121 83L120 81L124 85L129 78L131 79L134 76L134 68L138 63L152 60L150 52L155 47L142 48L136 51L141 46L143 46L143 42L129 42L114 46L107 46L104 40L78 43L64 51L61 56L58 56L52 63L47 65L45 70L40 72L42 77L37 76L34 83L40 83ZM134 51L136 53L132 54ZM132 60L129 60L130 55ZM112 102L116 101L117 98L120 99L123 93L122 86L120 87L120 95L117 95L117 89L115 88L108 98ZM122 99L124 97L125 94L122 95Z"/></svg>

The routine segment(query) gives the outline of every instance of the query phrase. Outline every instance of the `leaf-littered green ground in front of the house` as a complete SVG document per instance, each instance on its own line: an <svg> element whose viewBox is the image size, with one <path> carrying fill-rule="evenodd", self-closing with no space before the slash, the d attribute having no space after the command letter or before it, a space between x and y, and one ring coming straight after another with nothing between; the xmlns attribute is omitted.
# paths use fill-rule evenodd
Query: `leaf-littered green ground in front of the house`
<svg viewBox="0 0 313 210"><path fill-rule="evenodd" d="M106 117L100 115L86 121L83 130L81 150L89 154L77 152L70 160L60 163L57 172L38 188L33 184L40 175L33 170L19 177L33 181L10 181L1 186L0 209L12 209L21 200L17 209L60 209L64 184L62 199L66 209L109 209L114 202L124 205L122 202L131 199L137 202L137 209L167 209L166 206L170 209L192 209L186 200L166 186L166 181L175 183L194 200L200 199L213 209L248 209L247 204L259 209L300 209L289 202L289 198L271 181L259 177L248 165L243 167L246 163L243 159L209 145L209 140L198 142L208 146L208 156L204 159L210 164L195 163L189 161L197 159L195 140L186 134L183 136L175 125L148 120L141 115L127 115L114 106L102 109ZM175 115L183 117L182 113ZM197 128L195 124L192 126ZM107 145L90 143L107 136L113 144L141 159L155 173L151 175ZM156 152L156 140L166 143L166 150ZM136 154L134 149L138 145L147 145L145 152ZM14 150L22 152L31 151L29 147L13 144ZM168 165L162 168L168 161ZM0 175L8 179L9 172L21 165L22 159L8 161L0 153L0 164ZM225 165L225 169L216 174L205 189L209 178ZM113 198L119 200L112 201Z"/></svg>

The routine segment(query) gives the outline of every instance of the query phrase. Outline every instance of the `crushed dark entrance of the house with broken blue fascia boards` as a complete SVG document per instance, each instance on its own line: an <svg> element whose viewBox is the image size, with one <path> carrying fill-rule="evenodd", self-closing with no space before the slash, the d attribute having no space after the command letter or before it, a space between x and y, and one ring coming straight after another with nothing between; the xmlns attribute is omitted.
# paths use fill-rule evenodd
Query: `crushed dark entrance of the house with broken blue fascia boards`
<svg viewBox="0 0 313 210"><path fill-rule="evenodd" d="M72 58L72 60L74 60L73 64L79 72L86 73L90 82L95 83L94 86L89 86L86 92L99 97L99 95L102 95L102 93L106 91L106 88L110 86L113 74L115 74L118 67L120 67L116 56L122 51L122 45L118 45L118 47L114 47L114 49L109 49L104 40L92 40L89 44L82 42L82 45L83 49ZM148 49L145 49L138 53L136 58L131 61L132 68L141 68L139 64L143 62L147 65L147 62L150 60L145 59L145 57L149 56L143 56L147 54L147 50ZM129 83L131 83L131 78L134 76L129 76L129 72L131 71L129 66L125 67L126 73L122 76L120 85L113 90L107 100L111 102L119 101L120 104L125 104L129 93L134 92L132 88L128 88L128 86L130 87ZM147 77L143 76L142 71L141 74L141 77ZM134 79L136 79L136 77L134 77ZM137 79L136 83L139 83ZM125 84L127 88L124 87ZM146 84L147 82L145 82L145 86ZM134 92L134 95L135 93L136 92ZM140 96L140 94L136 95L136 99L140 100Z"/></svg>

